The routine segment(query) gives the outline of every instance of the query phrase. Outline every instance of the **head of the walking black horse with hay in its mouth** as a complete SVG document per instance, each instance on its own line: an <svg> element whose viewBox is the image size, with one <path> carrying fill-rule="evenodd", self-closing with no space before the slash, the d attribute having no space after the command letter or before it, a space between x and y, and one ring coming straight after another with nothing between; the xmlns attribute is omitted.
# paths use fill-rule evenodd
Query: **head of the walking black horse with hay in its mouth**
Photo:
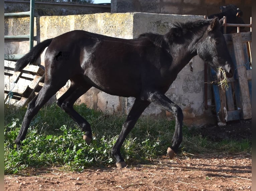
<svg viewBox="0 0 256 191"><path fill-rule="evenodd" d="M220 31L223 19L211 19L211 24L205 30L204 36L197 43L197 54L205 62L217 71L222 77L222 71L226 77L231 78L234 73L234 64L228 52L224 35Z"/></svg>

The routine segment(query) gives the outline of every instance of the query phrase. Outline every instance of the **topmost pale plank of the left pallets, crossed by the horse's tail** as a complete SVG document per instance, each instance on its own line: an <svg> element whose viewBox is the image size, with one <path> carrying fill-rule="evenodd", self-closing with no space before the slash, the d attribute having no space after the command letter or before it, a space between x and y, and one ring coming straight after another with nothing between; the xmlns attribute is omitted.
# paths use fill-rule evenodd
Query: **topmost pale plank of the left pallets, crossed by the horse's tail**
<svg viewBox="0 0 256 191"><path fill-rule="evenodd" d="M13 70L15 68L15 62L12 61L4 61L4 69L5 70ZM39 66L34 66L34 65L28 65L26 66L23 70L23 73L27 74L33 74L33 75L38 75L42 76L44 74L44 70L40 68Z"/></svg>

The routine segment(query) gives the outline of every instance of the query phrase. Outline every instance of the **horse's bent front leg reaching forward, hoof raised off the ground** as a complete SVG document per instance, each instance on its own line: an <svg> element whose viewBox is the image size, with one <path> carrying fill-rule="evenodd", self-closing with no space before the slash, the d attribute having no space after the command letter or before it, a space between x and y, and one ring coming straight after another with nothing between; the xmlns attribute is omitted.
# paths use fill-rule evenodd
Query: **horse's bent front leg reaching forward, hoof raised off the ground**
<svg viewBox="0 0 256 191"><path fill-rule="evenodd" d="M161 106L161 108L171 112L175 116L175 132L172 138L173 144L167 149L167 154L172 159L177 153L182 141L182 121L183 113L181 108L173 103L166 95L154 92L150 93L148 100Z"/></svg>

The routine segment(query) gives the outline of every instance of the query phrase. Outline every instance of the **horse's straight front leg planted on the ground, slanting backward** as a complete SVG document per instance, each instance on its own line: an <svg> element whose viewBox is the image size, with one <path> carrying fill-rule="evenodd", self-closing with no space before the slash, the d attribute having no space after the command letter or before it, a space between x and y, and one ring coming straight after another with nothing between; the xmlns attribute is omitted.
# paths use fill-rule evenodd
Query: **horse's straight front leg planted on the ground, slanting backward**
<svg viewBox="0 0 256 191"><path fill-rule="evenodd" d="M128 114L127 119L125 120L125 122L123 124L122 131L111 150L112 156L116 158L116 165L118 168L126 167L126 163L120 153L121 146L122 146L126 136L129 134L129 132L134 127L134 125L137 122L138 118L140 117L141 113L145 110L145 108L149 104L150 104L150 102L148 102L148 101L141 101L139 99L136 99L129 114Z"/></svg>

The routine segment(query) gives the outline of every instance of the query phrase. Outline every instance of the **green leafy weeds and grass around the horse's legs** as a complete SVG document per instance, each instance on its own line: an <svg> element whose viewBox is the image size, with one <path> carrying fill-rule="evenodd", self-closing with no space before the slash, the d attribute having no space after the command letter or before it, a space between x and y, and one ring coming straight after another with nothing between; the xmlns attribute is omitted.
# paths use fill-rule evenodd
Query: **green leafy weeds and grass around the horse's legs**
<svg viewBox="0 0 256 191"><path fill-rule="evenodd" d="M16 151L14 140L19 132L26 108L5 105L4 159L5 174L22 172L27 167L60 166L82 171L89 166L114 164L111 147L115 143L126 116L106 114L86 107L75 106L92 126L93 140L88 146L79 126L56 104L44 106L34 117L21 150ZM166 155L174 133L174 121L141 117L127 136L122 156L128 164ZM178 156L193 157L205 153L251 152L250 140L213 142L202 137L196 129L183 127L183 141ZM189 154L191 153L191 154Z"/></svg>

